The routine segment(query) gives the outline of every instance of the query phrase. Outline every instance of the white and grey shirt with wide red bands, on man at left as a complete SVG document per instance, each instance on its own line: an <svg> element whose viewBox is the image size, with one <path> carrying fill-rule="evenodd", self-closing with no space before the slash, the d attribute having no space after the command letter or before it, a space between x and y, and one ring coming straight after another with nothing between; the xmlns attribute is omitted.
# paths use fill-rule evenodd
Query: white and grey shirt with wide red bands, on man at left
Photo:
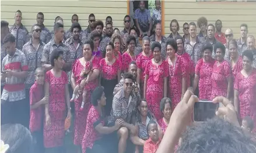
<svg viewBox="0 0 256 153"><path fill-rule="evenodd" d="M15 54L13 56L6 55L2 61L2 70L13 70L15 72L27 71L29 66L27 65L26 56L22 51L15 48ZM26 98L25 84L23 78L12 76L5 79L5 86L3 87L1 99L5 101L19 101Z"/></svg>

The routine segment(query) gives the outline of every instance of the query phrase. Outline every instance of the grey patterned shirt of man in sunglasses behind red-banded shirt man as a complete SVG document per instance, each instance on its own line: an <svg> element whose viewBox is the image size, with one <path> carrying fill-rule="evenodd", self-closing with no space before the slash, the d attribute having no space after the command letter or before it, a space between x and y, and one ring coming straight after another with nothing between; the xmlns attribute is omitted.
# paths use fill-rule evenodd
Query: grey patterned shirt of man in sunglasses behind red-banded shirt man
<svg viewBox="0 0 256 153"><path fill-rule="evenodd" d="M38 48L34 48L32 39L24 44L22 52L26 55L29 72L25 81L25 86L29 89L35 81L35 72L37 67L41 66L41 58L44 49L44 42L40 41Z"/></svg>

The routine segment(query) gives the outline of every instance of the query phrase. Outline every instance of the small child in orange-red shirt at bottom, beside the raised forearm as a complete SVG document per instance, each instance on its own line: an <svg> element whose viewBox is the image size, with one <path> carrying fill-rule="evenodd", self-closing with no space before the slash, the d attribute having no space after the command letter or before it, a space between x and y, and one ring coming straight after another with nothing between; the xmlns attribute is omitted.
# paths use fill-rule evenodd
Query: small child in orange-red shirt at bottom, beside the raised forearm
<svg viewBox="0 0 256 153"><path fill-rule="evenodd" d="M157 123L153 120L150 120L147 126L147 130L149 134L149 139L146 140L146 143L144 144L143 152L155 153L161 143Z"/></svg>

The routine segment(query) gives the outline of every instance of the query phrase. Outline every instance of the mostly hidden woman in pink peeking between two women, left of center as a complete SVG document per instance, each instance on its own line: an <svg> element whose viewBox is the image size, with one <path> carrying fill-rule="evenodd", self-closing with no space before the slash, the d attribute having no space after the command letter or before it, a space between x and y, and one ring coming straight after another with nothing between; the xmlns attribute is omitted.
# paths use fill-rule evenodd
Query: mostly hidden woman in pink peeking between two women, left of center
<svg viewBox="0 0 256 153"><path fill-rule="evenodd" d="M122 63L122 38L120 34L113 34L111 37L111 41L114 43L114 56L118 61Z"/></svg>

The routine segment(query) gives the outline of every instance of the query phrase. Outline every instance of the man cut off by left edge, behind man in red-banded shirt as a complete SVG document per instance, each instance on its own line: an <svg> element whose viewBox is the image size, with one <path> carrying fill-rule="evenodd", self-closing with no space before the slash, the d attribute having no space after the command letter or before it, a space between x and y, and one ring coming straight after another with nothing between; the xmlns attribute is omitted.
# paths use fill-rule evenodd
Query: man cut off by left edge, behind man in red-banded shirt
<svg viewBox="0 0 256 153"><path fill-rule="evenodd" d="M2 65L2 61L3 61L3 58L5 58L5 56L7 55L7 52L5 50L5 46L3 45L3 38L5 38L5 36L7 34L9 34L9 23L6 22L6 21L1 21L1 65ZM1 66L2 68L2 66ZM1 69L2 71L2 69ZM5 83L1 81L1 95L2 95L2 92L3 92L3 86L5 85Z"/></svg>

